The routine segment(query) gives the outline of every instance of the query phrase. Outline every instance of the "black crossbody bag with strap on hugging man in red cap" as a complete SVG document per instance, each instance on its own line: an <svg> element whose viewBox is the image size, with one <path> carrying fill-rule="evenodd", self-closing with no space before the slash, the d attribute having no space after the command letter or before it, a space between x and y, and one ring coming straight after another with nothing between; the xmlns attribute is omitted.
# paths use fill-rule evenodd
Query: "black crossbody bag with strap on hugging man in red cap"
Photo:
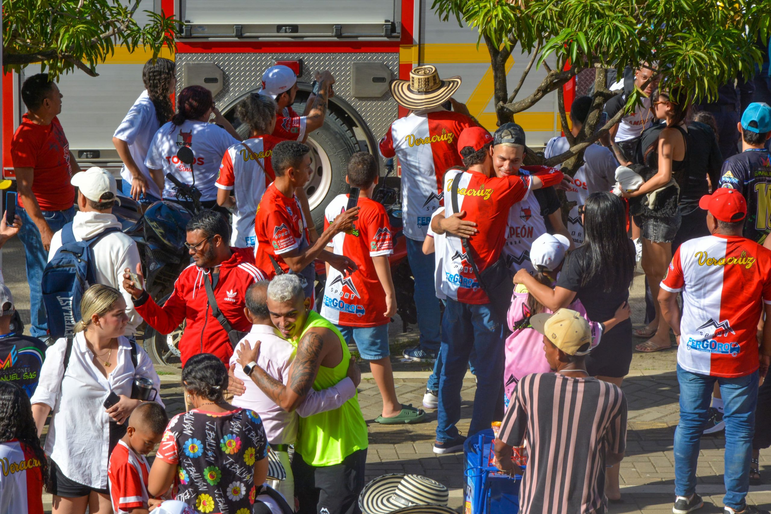
<svg viewBox="0 0 771 514"><path fill-rule="evenodd" d="M451 194L453 212L455 213L460 212L458 207L458 187L461 175L462 173L456 174L455 178L453 178ZM460 242L463 245L463 252L466 253L466 261L471 265L474 276L476 276L476 281L479 282L480 287L487 294L487 298L490 299L490 310L493 311L499 323L507 326L506 314L511 305L514 283L512 282L513 277L509 267L506 265L506 260L503 257L499 257L496 262L493 262L492 265L480 273L480 270L476 267L476 262L474 262L469 240L467 238L460 238Z"/></svg>

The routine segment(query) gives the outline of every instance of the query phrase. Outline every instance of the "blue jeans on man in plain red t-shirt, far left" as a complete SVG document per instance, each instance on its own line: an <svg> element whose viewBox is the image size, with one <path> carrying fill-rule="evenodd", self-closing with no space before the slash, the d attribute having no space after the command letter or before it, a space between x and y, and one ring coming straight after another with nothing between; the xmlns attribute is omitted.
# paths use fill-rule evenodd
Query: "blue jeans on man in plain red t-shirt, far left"
<svg viewBox="0 0 771 514"><path fill-rule="evenodd" d="M45 306L42 302L42 290L40 283L43 278L43 269L48 262L48 250L43 248L40 231L35 222L29 217L27 211L16 209L16 214L22 218L22 228L19 230L19 239L24 245L26 258L27 282L29 282L29 316L32 319L29 333L32 337L45 339L48 336L48 317L45 314ZM64 225L75 217L75 207L66 211L42 211L43 218L48 222L52 232L59 232Z"/></svg>

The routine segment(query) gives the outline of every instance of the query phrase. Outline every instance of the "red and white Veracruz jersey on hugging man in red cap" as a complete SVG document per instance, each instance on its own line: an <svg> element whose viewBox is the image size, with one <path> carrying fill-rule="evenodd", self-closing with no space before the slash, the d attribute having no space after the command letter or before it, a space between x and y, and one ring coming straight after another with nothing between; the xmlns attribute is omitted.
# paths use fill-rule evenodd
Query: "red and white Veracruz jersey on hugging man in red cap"
<svg viewBox="0 0 771 514"><path fill-rule="evenodd" d="M445 216L453 211L453 179L460 174L458 211L466 211L466 220L476 222L479 233L469 238L470 251L480 272L500 258L512 205L527 198L530 177L512 175L487 177L479 171L449 171L444 177ZM460 238L447 237L444 244L444 279L442 291L462 303L490 303L480 288L466 257Z"/></svg>

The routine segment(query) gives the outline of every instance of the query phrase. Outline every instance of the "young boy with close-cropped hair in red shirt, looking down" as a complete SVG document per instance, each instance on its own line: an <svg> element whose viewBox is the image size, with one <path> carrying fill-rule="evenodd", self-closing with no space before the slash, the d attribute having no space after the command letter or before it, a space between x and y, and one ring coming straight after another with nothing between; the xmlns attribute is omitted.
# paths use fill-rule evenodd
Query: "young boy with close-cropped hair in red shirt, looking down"
<svg viewBox="0 0 771 514"><path fill-rule="evenodd" d="M109 458L109 496L115 514L147 514L160 504L147 494L150 465L145 455L160 443L167 424L166 411L154 401L140 404L131 413L126 435Z"/></svg>

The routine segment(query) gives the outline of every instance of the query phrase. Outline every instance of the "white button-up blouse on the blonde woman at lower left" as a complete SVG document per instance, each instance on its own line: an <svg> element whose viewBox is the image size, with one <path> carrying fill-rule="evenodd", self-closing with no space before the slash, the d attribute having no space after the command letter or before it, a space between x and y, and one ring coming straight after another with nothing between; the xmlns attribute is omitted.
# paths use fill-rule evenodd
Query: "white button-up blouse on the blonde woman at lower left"
<svg viewBox="0 0 771 514"><path fill-rule="evenodd" d="M62 380L66 347L67 340L62 337L45 351L40 381L30 402L51 407L45 453L62 473L79 484L106 489L111 418L103 403L110 391L131 397L135 376L131 343L126 337L118 338L115 368L105 377L93 363L94 354L86 346L86 337L82 332L77 333ZM158 391L156 401L163 405L160 379L140 345L137 345L136 364L136 375L153 380L153 387Z"/></svg>

